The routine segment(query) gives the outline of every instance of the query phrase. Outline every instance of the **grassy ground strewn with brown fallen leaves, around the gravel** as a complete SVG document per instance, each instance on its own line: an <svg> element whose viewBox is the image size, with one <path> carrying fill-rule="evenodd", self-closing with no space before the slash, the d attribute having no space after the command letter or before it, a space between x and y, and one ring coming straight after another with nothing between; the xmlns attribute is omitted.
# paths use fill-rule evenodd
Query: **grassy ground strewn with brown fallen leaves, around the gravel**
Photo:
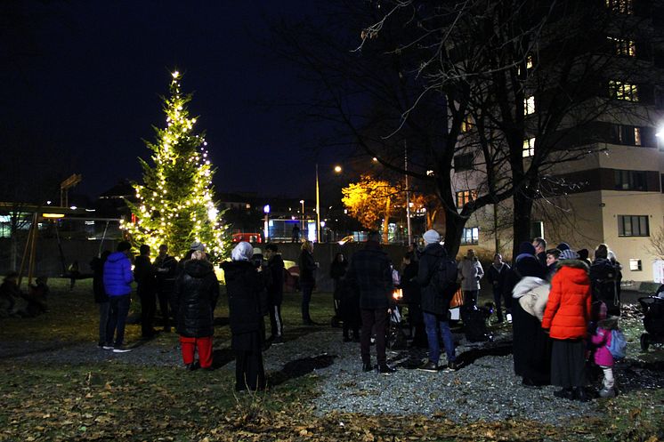
<svg viewBox="0 0 664 442"><path fill-rule="evenodd" d="M99 363L40 363L16 358L40 348L86 342L95 348L96 310L89 281L69 293L67 281L52 280L50 311L34 319L0 323L0 440L7 441L226 441L226 440L643 440L664 439L664 392L630 390L596 400L602 417L564 426L545 426L528 416L507 422L451 422L424 417L361 414L318 416L311 398L319 380L307 374L258 394L236 394L231 370L185 372L181 366L127 364L122 358ZM297 294L287 295L285 322L299 317ZM224 301L217 316L227 315ZM314 320L327 322L328 295L314 295ZM628 326L640 326L632 320ZM138 325L128 326L128 341ZM228 338L218 326L215 342ZM160 336L172 351L174 335ZM18 352L18 353L17 353ZM644 361L664 360L661 348Z"/></svg>

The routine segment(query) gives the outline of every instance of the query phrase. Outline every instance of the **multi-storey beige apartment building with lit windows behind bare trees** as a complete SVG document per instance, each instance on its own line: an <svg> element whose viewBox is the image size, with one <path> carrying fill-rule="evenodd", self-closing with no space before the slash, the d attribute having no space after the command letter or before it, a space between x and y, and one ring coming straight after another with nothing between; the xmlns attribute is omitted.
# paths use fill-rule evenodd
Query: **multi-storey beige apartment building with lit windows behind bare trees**
<svg viewBox="0 0 664 442"><path fill-rule="evenodd" d="M611 66L619 68L603 71L587 105L609 104L573 137L559 141L556 149L563 153L569 154L572 145L577 153L587 149L542 173L530 236L545 237L552 247L565 241L574 249L587 248L591 259L595 246L606 243L621 262L625 280L661 281L664 256L655 251L658 240L664 241L664 2L601 0L597 5L614 14L617 22L631 20L637 25L607 26L603 35L595 36L612 52L607 55L617 59ZM526 94L527 118L537 118L542 94ZM526 135L524 163L536 149L536 138ZM463 150L455 157L459 209L482 187L474 158ZM510 255L512 216L511 200L473 213L466 222L461 253L473 247L481 253L498 250Z"/></svg>

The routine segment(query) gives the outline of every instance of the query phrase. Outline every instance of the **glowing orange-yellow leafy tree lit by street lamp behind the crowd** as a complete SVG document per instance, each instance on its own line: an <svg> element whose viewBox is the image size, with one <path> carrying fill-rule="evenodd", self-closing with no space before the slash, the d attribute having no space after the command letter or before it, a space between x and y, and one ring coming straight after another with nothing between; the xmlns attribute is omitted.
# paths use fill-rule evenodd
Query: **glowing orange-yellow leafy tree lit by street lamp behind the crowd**
<svg viewBox="0 0 664 442"><path fill-rule="evenodd" d="M401 198L401 190L385 180L377 180L368 174L360 181L341 189L341 201L348 213L367 229L377 229L383 220L383 241L387 242L387 226L392 207Z"/></svg>

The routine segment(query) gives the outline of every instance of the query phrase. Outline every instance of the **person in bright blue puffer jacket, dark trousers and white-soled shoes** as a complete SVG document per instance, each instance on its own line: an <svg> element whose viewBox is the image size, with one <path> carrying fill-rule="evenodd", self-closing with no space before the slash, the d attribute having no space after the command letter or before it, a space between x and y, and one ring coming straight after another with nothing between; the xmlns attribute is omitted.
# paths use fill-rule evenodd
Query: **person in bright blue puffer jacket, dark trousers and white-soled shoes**
<svg viewBox="0 0 664 442"><path fill-rule="evenodd" d="M104 350L115 353L130 351L124 347L125 323L131 303L132 261L129 259L132 245L122 241L117 245L117 252L111 253L104 263L104 290L109 295L109 322L106 327ZM116 334L117 332L117 334ZM115 335L115 342L113 336Z"/></svg>

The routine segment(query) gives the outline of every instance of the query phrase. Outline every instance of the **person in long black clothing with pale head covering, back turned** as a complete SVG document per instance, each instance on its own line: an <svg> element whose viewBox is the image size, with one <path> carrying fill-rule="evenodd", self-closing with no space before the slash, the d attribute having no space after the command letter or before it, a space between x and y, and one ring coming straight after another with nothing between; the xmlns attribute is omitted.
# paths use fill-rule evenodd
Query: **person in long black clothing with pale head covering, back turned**
<svg viewBox="0 0 664 442"><path fill-rule="evenodd" d="M263 334L261 293L265 278L251 262L254 248L240 242L231 253L233 261L222 264L231 320L231 348L235 351L235 390L263 390Z"/></svg>

